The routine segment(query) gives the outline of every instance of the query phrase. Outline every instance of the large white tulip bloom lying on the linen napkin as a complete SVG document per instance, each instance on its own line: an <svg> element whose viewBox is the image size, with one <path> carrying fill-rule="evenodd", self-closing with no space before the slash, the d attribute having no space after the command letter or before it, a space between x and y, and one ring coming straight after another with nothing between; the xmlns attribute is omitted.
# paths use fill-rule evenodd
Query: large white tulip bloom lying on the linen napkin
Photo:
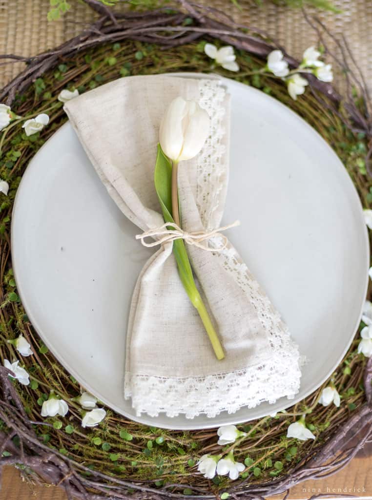
<svg viewBox="0 0 372 500"><path fill-rule="evenodd" d="M159 129L164 154L175 162L196 156L209 135L209 121L208 113L194 100L173 99Z"/></svg>

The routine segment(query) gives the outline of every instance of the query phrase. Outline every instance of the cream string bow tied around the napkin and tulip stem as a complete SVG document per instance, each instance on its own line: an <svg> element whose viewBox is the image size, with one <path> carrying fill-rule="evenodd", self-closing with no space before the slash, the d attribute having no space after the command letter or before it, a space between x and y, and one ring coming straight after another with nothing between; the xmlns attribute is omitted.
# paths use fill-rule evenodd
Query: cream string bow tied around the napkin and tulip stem
<svg viewBox="0 0 372 500"><path fill-rule="evenodd" d="M227 238L224 234L221 234L220 231L225 231L230 227L236 227L240 225L239 220L235 220L232 224L223 225L221 227L217 227L216 229L212 229L211 231L192 231L187 232L184 231L177 225L175 222L165 222L163 225L159 227L155 227L154 229L148 229L147 231L142 232L142 234L136 234L135 239L140 239L143 246L147 248L151 248L156 245L164 245L169 241L174 241L175 239L183 239L185 243L189 245L197 246L203 250L207 251L222 251L227 245ZM171 228L171 229L170 229ZM222 238L222 245L213 248L208 246L208 239L213 236L219 236ZM154 238L154 241L148 243L146 238Z"/></svg>

